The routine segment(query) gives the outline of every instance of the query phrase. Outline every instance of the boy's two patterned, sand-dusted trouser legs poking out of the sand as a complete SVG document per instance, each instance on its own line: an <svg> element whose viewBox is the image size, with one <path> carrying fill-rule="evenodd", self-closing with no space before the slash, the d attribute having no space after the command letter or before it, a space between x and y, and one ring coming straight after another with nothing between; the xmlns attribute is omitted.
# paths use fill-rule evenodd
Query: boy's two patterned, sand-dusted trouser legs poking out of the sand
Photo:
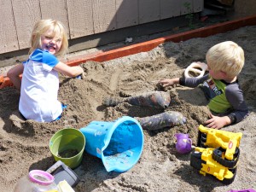
<svg viewBox="0 0 256 192"><path fill-rule="evenodd" d="M109 96L104 99L102 104L108 107L113 107L122 102L128 102L131 105L147 106L151 108L167 108L171 102L171 96L165 91L151 91L139 96ZM164 127L172 127L186 123L186 118L183 116L183 114L175 111L166 111L164 113L144 118L136 117L135 119L137 119L145 130L158 130Z"/></svg>

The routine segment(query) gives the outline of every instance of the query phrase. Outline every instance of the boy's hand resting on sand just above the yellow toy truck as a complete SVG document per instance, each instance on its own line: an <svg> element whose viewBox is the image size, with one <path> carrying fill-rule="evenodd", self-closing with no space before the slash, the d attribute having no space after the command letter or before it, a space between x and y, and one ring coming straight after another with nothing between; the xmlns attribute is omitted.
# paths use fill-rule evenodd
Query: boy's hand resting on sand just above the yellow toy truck
<svg viewBox="0 0 256 192"><path fill-rule="evenodd" d="M218 117L218 116L214 116L212 114L210 114L210 118L205 122L205 125L209 128L213 128L213 129L221 129L223 128L225 125L230 125L231 121L230 118L228 116L224 116L224 117Z"/></svg>

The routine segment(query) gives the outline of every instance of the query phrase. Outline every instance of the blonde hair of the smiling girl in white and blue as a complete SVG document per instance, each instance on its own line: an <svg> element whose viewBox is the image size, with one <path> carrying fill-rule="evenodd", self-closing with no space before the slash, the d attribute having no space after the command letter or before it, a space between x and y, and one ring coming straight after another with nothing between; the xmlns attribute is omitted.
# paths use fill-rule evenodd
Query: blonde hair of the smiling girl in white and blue
<svg viewBox="0 0 256 192"><path fill-rule="evenodd" d="M56 55L65 55L68 48L67 32L65 26L58 20L38 20L32 30L32 36L30 39L31 48L29 49L29 55L34 51L34 49L41 49L41 35L44 35L45 32L53 26L52 36L59 37L62 39L61 49Z"/></svg>

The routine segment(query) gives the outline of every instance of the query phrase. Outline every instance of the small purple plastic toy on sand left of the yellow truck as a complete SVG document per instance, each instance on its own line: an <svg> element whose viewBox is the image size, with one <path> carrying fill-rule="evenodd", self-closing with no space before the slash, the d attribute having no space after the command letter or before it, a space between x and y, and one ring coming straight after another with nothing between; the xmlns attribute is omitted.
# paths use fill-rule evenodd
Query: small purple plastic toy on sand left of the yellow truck
<svg viewBox="0 0 256 192"><path fill-rule="evenodd" d="M192 148L192 141L189 138L189 134L176 133L177 139L176 149L179 154L188 154Z"/></svg>

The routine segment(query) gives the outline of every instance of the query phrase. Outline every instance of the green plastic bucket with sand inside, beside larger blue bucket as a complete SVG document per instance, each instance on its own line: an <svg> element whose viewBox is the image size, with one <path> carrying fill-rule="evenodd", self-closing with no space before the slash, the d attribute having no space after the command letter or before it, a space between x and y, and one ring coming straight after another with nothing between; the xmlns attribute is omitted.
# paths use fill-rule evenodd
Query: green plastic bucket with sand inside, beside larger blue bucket
<svg viewBox="0 0 256 192"><path fill-rule="evenodd" d="M80 165L83 159L84 147L84 134L73 128L57 131L49 140L49 150L55 161L61 160L72 169Z"/></svg>

